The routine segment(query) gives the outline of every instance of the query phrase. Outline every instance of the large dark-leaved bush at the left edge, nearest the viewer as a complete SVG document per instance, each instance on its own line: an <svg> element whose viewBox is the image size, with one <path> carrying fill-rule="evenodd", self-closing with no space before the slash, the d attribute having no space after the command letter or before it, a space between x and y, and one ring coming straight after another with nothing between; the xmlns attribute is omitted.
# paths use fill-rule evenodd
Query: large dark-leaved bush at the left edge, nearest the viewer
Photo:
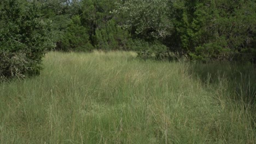
<svg viewBox="0 0 256 144"><path fill-rule="evenodd" d="M36 2L0 2L1 79L39 74L45 50L54 46L49 24Z"/></svg>

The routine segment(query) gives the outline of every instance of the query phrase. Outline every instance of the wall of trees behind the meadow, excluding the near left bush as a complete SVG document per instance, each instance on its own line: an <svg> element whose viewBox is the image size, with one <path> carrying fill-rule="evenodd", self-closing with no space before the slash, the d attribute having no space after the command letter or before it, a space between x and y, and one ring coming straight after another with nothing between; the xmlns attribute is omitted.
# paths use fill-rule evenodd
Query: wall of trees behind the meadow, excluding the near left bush
<svg viewBox="0 0 256 144"><path fill-rule="evenodd" d="M255 61L255 1L40 2L44 16L54 22L57 50L134 50L144 58Z"/></svg>

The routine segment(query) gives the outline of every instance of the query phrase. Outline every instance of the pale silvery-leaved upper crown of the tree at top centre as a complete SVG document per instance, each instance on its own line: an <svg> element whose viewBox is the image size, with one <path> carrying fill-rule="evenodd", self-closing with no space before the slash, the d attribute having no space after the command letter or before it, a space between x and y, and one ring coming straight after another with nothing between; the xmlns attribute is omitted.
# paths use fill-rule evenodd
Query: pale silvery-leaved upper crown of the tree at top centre
<svg viewBox="0 0 256 144"><path fill-rule="evenodd" d="M173 25L168 15L167 0L127 0L118 3L117 13L123 18L121 26L132 35L151 41L171 34Z"/></svg>

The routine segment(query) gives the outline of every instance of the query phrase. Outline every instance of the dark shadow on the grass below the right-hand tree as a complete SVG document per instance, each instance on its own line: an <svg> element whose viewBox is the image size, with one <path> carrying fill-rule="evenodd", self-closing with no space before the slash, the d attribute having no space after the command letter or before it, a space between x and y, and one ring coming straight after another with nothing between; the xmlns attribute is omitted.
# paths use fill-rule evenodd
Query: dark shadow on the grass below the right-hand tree
<svg viewBox="0 0 256 144"><path fill-rule="evenodd" d="M193 63L189 73L207 87L223 88L226 96L256 107L256 65L242 63Z"/></svg>

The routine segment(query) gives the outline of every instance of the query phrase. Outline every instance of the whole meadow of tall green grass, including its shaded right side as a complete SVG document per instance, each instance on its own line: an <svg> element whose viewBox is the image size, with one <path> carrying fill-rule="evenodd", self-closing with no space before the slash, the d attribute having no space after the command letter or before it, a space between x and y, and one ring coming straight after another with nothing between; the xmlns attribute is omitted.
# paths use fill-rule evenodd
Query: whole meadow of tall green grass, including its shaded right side
<svg viewBox="0 0 256 144"><path fill-rule="evenodd" d="M46 54L0 84L0 143L256 143L253 65L135 56Z"/></svg>

